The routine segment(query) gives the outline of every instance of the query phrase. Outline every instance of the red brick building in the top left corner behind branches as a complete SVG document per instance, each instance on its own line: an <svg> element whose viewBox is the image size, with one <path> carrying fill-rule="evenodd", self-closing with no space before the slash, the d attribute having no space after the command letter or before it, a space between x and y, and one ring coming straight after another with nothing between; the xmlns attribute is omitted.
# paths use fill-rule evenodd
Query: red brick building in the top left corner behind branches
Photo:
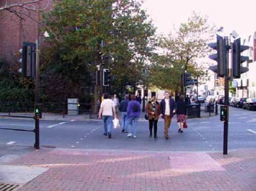
<svg viewBox="0 0 256 191"><path fill-rule="evenodd" d="M8 5L22 4L31 0L8 0ZM40 10L49 11L52 7L52 0L41 0L38 3L27 5L31 9L21 7L13 8L18 13L22 13L23 19L15 13L4 10L0 11L0 57L7 61L12 68L19 68L19 49L23 41L35 42L40 34ZM6 1L0 1L0 7L4 7ZM29 15L29 16L27 16Z"/></svg>

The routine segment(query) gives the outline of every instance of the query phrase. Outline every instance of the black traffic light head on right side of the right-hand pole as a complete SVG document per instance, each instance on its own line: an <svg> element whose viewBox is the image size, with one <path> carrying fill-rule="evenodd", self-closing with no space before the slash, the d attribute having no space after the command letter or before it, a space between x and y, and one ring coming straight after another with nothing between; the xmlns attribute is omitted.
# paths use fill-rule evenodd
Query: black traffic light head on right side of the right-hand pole
<svg viewBox="0 0 256 191"><path fill-rule="evenodd" d="M248 56L241 56L241 53L247 49L249 49L249 46L241 45L241 38L234 40L232 46L233 78L240 78L241 74L248 71L248 68L241 67L241 63L249 60Z"/></svg>

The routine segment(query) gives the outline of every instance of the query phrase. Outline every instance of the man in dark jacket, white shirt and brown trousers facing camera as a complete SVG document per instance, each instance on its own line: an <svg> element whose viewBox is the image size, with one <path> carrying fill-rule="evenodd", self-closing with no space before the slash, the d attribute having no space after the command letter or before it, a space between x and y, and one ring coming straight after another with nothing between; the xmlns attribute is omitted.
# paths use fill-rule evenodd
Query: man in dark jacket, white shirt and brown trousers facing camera
<svg viewBox="0 0 256 191"><path fill-rule="evenodd" d="M160 116L164 118L164 135L168 139L168 128L172 122L172 117L176 112L176 103L172 98L169 98L170 93L166 91L164 93L165 98L160 103Z"/></svg>

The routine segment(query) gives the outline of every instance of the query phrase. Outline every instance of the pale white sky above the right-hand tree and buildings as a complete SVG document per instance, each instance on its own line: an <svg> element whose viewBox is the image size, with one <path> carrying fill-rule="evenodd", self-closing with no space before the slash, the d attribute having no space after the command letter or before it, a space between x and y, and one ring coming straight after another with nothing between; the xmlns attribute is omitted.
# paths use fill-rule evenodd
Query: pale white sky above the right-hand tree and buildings
<svg viewBox="0 0 256 191"><path fill-rule="evenodd" d="M248 38L256 32L256 0L144 0L142 8L153 19L158 34L168 34L193 11L207 15L209 23L224 27L227 35L235 30L241 38Z"/></svg>

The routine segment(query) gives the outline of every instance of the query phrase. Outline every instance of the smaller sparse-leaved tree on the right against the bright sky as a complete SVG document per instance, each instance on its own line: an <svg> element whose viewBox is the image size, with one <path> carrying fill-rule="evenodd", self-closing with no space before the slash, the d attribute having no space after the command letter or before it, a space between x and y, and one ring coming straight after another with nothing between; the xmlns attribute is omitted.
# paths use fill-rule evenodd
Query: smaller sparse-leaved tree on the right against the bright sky
<svg viewBox="0 0 256 191"><path fill-rule="evenodd" d="M162 53L154 58L151 69L154 85L177 91L181 89L183 71L194 77L204 76L203 69L197 65L197 59L205 57L210 51L207 43L213 37L212 31L213 27L209 26L207 17L193 12L178 30L167 37L160 37Z"/></svg>

